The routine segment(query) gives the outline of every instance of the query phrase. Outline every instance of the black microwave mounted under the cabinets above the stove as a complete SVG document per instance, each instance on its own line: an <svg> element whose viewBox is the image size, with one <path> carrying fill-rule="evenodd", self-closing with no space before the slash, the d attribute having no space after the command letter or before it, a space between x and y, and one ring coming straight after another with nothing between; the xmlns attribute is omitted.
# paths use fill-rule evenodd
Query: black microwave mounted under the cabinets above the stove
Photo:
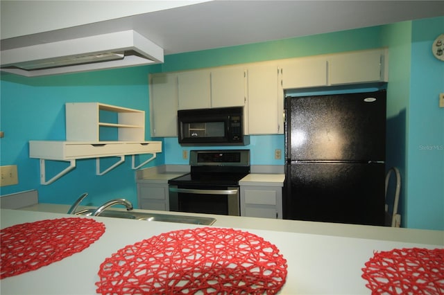
<svg viewBox="0 0 444 295"><path fill-rule="evenodd" d="M248 145L244 107L181 109L178 140L180 145Z"/></svg>

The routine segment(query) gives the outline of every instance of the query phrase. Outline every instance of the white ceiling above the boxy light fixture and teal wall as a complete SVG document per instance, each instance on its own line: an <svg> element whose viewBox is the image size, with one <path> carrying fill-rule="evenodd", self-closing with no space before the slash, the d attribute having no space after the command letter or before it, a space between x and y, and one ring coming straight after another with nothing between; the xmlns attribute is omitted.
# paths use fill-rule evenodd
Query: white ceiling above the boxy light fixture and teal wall
<svg viewBox="0 0 444 295"><path fill-rule="evenodd" d="M97 3L101 3L101 7L105 10L108 5L112 5L112 2ZM128 1L127 5L131 5L130 2L132 1ZM153 1L155 2L157 1ZM58 3L60 6L64 1ZM67 1L67 3L74 2ZM140 3L149 4L150 1ZM182 6L2 39L1 49L133 29L164 48L164 54L168 55L444 15L444 1L232 0L202 3L178 1L178 5L175 6L179 5ZM88 6L82 7L82 10L87 9ZM81 10L67 11L70 13L66 15L60 15L56 10L45 11L45 15L40 17L47 20L56 17L58 19L81 17ZM10 19L15 21L22 19L21 24L23 24L24 18L17 15ZM4 27L12 24L5 24L2 21L1 25ZM31 25L29 28L31 29Z"/></svg>

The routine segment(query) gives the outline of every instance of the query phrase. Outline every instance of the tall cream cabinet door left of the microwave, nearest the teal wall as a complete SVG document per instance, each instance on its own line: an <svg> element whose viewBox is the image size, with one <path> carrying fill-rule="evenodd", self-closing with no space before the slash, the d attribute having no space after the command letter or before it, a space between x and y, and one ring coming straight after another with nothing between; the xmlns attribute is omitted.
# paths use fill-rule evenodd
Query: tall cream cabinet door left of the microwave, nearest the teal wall
<svg viewBox="0 0 444 295"><path fill-rule="evenodd" d="M178 80L176 73L162 73L150 77L151 136L178 136Z"/></svg>

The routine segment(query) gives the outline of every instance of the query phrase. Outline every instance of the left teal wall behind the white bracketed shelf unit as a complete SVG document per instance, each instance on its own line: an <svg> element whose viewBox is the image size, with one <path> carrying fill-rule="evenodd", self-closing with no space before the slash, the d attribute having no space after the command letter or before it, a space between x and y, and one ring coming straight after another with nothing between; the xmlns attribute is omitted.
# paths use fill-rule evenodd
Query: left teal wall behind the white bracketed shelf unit
<svg viewBox="0 0 444 295"><path fill-rule="evenodd" d="M103 102L148 111L148 69L116 69L42 78L1 75L1 165L17 165L19 184L0 188L1 195L37 189L40 202L72 204L76 197L88 192L85 204L99 205L113 197L126 197L137 204L135 172L131 159L103 176L97 176L95 159L76 161L76 169L53 184L40 184L38 159L28 157L30 140L65 140L66 102ZM149 140L149 120L146 125ZM137 159L148 159L144 155ZM103 159L101 170L117 158ZM164 162L163 154L146 167ZM139 163L139 162L138 162ZM50 179L67 163L46 161L46 179Z"/></svg>

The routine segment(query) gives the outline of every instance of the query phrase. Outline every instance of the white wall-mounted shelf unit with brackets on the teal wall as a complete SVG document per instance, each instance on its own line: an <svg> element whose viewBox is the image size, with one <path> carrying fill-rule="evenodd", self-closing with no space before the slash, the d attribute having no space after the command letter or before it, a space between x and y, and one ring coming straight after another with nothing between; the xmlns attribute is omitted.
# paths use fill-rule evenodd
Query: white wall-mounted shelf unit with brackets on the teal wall
<svg viewBox="0 0 444 295"><path fill-rule="evenodd" d="M76 159L96 158L96 175L104 175L123 163L126 155L132 157L132 168L139 169L155 159L157 152L162 152L161 141L144 141L145 112L137 109L99 102L70 102L66 104L66 130L67 141L29 142L29 157L40 159L41 184L52 184L76 168ZM152 154L152 157L136 165L137 154ZM103 157L119 159L101 171ZM69 166L46 180L46 160L66 161Z"/></svg>

